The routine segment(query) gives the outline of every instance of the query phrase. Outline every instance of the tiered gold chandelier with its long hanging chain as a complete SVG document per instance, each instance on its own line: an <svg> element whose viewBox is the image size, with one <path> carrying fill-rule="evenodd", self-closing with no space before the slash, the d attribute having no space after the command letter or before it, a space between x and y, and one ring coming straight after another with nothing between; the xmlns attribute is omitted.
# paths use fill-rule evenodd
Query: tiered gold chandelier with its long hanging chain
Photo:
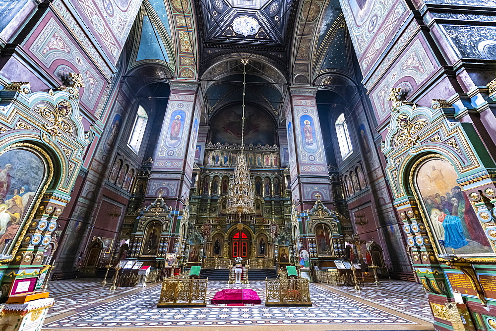
<svg viewBox="0 0 496 331"><path fill-rule="evenodd" d="M231 214L230 218L242 217L245 220L254 217L255 210L253 209L253 185L249 178L249 169L245 156L245 86L246 86L246 68L248 58L242 58L241 63L244 64L243 70L243 117L241 125L241 153L238 156L238 161L234 168L233 179L231 182L226 213Z"/></svg>

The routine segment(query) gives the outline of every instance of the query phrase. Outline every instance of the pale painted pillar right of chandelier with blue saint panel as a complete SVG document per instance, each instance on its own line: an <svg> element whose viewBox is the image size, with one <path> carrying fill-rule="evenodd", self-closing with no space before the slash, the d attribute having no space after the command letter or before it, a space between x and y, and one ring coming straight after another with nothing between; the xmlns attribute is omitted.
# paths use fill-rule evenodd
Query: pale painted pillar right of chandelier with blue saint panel
<svg viewBox="0 0 496 331"><path fill-rule="evenodd" d="M292 199L299 210L307 210L313 207L319 195L324 205L333 209L315 89L291 89L284 109Z"/></svg>

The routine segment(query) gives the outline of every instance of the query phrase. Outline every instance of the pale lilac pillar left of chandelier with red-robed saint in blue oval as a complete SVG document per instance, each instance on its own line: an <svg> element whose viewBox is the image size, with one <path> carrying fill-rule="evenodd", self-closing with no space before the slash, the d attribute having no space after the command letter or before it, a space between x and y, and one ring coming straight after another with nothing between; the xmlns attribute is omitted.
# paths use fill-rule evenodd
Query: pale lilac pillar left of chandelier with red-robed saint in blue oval
<svg viewBox="0 0 496 331"><path fill-rule="evenodd" d="M201 112L197 90L196 83L171 84L171 95L153 157L146 201L155 200L162 190L167 205L179 209L189 198Z"/></svg>

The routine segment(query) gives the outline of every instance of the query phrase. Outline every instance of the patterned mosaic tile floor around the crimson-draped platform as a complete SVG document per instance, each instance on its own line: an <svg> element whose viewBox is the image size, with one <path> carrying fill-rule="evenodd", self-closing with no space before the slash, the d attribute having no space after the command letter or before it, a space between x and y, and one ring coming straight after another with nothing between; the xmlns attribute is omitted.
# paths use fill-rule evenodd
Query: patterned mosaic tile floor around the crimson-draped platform
<svg viewBox="0 0 496 331"><path fill-rule="evenodd" d="M367 285L361 293L339 286L310 283L312 307L265 307L264 304L218 307L209 304L206 308L156 308L159 284L144 289L120 288L114 292L108 291L108 286L102 287L98 281L88 279L52 282L51 296L56 304L49 312L44 330L192 326L258 328L302 324L340 330L433 330L429 323L432 316L429 319L422 310L427 297L419 292L421 285L403 281L390 281L383 287ZM265 282L253 282L248 286L257 291L262 302L265 301ZM224 288L228 288L225 282L209 282L208 301Z"/></svg>

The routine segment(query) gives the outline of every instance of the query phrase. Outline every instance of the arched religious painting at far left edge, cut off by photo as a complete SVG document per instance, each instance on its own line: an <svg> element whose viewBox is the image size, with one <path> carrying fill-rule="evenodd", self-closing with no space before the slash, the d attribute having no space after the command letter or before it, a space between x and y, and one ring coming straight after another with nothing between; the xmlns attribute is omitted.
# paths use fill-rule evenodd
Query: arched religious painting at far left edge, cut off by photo
<svg viewBox="0 0 496 331"><path fill-rule="evenodd" d="M10 257L46 179L35 153L12 149L0 155L0 260Z"/></svg>

